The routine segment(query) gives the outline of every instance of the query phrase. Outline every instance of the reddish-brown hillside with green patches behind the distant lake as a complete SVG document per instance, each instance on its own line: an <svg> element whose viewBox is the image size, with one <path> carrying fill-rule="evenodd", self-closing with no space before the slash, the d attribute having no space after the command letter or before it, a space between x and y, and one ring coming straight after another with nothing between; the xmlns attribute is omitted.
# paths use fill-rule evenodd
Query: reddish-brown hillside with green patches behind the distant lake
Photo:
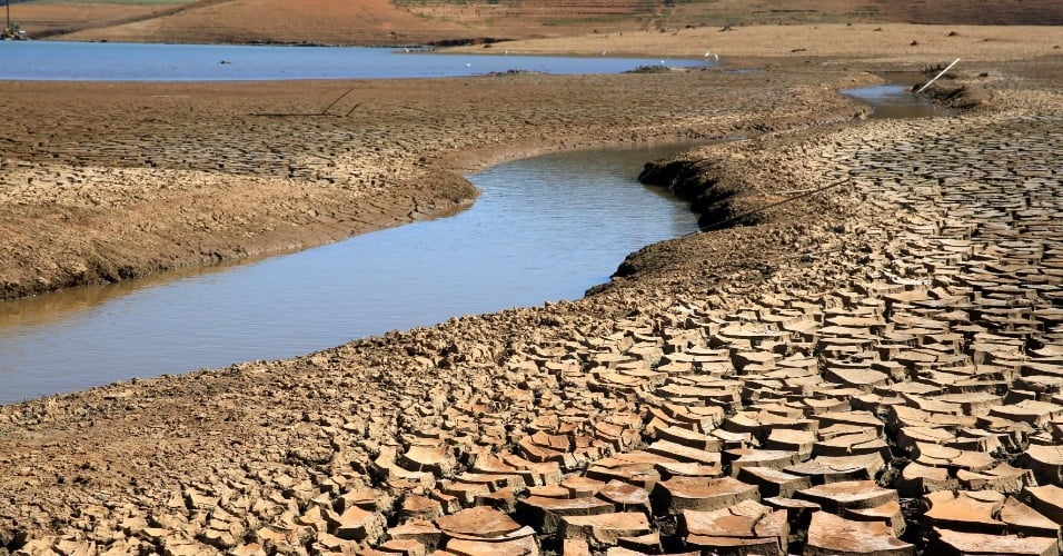
<svg viewBox="0 0 1063 556"><path fill-rule="evenodd" d="M408 44L686 27L838 22L1063 24L1056 0L48 0L11 6L37 38Z"/></svg>

